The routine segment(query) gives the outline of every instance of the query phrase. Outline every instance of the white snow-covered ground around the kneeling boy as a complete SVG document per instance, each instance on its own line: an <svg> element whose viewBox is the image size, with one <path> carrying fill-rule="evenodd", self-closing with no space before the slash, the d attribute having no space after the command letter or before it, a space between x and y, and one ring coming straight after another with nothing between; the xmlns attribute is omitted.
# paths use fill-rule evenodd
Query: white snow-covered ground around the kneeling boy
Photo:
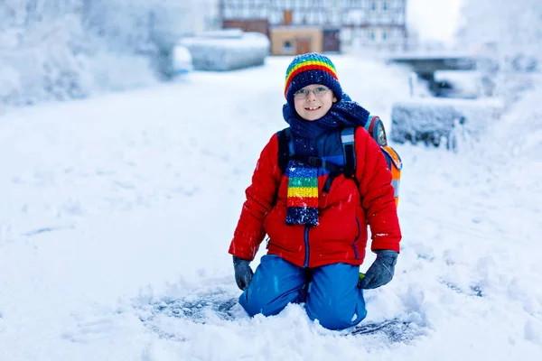
<svg viewBox="0 0 542 361"><path fill-rule="evenodd" d="M332 59L389 126L406 70ZM0 117L0 360L542 359L540 89L473 151L396 147L402 252L364 322L400 333L231 307L229 241L285 127L289 60Z"/></svg>

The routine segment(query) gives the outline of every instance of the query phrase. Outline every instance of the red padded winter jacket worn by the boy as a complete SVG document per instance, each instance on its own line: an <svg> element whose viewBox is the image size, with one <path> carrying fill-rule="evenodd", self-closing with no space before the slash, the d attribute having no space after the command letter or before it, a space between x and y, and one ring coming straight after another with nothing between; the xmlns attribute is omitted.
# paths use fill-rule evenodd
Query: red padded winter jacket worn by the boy
<svg viewBox="0 0 542 361"><path fill-rule="evenodd" d="M329 193L322 193L327 175L319 176L319 225L288 226L285 223L288 178L278 165L278 137L274 134L260 154L252 184L246 191L247 200L229 254L253 260L267 234L267 253L300 267L340 262L359 265L365 258L367 224L373 251L399 252L401 231L384 155L362 127L356 130L355 148L360 190L356 190L353 180L340 175L333 180Z"/></svg>

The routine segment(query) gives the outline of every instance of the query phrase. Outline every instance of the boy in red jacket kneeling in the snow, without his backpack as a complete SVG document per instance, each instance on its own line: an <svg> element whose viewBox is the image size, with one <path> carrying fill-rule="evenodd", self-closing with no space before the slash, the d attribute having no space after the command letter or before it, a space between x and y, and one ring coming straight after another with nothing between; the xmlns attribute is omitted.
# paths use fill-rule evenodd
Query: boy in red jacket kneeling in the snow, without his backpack
<svg viewBox="0 0 542 361"><path fill-rule="evenodd" d="M283 172L274 134L260 154L229 246L243 290L239 303L252 317L304 302L308 316L324 328L346 329L367 315L362 290L382 286L394 274L401 232L391 174L378 143L363 129L369 112L342 93L327 57L295 57L286 70L285 97L291 157ZM350 178L323 166L345 165L344 127L356 127ZM323 162L307 162L316 157ZM360 280L367 224L377 259ZM249 263L266 234L267 255L253 273Z"/></svg>

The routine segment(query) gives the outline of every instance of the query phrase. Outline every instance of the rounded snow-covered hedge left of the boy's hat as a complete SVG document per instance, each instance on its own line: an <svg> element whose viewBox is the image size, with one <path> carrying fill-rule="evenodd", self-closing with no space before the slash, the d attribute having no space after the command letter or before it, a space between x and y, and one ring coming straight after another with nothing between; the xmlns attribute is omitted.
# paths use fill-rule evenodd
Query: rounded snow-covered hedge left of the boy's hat
<svg viewBox="0 0 542 361"><path fill-rule="evenodd" d="M263 65L269 39L259 32L212 32L180 42L192 53L194 69L233 70Z"/></svg>

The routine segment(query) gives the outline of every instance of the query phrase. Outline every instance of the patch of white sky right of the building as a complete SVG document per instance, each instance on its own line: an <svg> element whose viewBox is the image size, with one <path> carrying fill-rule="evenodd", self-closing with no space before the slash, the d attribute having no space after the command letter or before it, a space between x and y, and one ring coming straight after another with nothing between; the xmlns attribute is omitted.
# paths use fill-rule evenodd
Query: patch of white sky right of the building
<svg viewBox="0 0 542 361"><path fill-rule="evenodd" d="M453 42L463 0L407 0L408 26L422 41Z"/></svg>

